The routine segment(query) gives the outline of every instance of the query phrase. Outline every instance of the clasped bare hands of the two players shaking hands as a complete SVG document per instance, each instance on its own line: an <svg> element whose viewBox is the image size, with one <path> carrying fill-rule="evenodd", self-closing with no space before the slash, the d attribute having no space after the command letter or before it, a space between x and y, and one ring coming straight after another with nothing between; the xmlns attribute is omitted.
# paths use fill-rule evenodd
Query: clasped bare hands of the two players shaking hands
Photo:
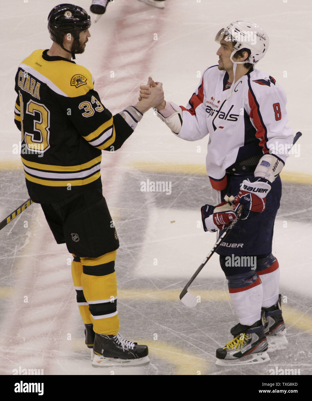
<svg viewBox="0 0 312 401"><path fill-rule="evenodd" d="M163 84L161 82L154 82L151 77L147 82L147 85L140 86L139 103L135 107L145 113L151 107L158 110L165 108L165 97L163 93Z"/></svg>

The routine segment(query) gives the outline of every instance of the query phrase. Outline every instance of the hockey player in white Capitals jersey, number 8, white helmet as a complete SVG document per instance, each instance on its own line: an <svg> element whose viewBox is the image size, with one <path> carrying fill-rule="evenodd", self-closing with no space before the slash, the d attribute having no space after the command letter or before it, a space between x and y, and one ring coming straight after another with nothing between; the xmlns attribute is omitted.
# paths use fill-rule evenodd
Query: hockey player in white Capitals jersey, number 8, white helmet
<svg viewBox="0 0 312 401"><path fill-rule="evenodd" d="M221 235L244 207L242 219L217 250L239 323L230 330L233 340L217 349L216 363L263 363L270 360L270 338L272 349L287 342L272 237L282 192L279 173L293 132L286 126L283 89L254 68L268 51L264 30L236 21L219 30L215 41L218 65L204 71L187 106L163 101L157 115L178 138L195 141L209 134L206 168L219 205L201 208L204 230L219 229ZM140 98L148 97L154 85L149 78ZM243 262L246 256L256 257L256 267L229 261Z"/></svg>

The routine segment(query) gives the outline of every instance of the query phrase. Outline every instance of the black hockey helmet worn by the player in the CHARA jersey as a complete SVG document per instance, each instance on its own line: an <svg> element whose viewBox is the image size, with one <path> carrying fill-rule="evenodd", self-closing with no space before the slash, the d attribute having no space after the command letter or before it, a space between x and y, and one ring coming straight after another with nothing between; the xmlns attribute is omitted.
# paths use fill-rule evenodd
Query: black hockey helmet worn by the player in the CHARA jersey
<svg viewBox="0 0 312 401"><path fill-rule="evenodd" d="M74 4L58 4L48 15L48 31L53 42L63 47L66 33L72 34L74 40L79 40L79 33L90 28L91 19L87 11ZM64 49L68 51L67 49ZM68 51L68 53L71 53ZM72 54L74 59L74 54Z"/></svg>

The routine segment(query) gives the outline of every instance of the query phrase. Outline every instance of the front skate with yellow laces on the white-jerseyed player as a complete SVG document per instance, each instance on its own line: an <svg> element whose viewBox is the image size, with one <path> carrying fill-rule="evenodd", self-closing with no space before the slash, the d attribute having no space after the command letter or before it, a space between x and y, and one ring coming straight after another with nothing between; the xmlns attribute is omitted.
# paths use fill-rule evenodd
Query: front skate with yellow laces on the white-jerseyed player
<svg viewBox="0 0 312 401"><path fill-rule="evenodd" d="M270 361L267 354L268 341L264 333L263 319L252 326L238 323L231 329L233 340L227 342L225 347L218 348L215 356L216 365L252 365Z"/></svg>

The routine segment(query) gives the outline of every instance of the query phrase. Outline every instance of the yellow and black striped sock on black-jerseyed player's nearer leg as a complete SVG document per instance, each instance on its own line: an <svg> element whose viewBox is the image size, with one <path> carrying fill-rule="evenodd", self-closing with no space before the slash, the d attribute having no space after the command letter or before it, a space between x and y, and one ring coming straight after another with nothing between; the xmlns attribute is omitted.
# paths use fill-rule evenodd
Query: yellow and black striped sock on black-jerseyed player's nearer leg
<svg viewBox="0 0 312 401"><path fill-rule="evenodd" d="M81 257L83 294L89 304L93 330L98 334L117 334L117 279L115 259L117 251L96 258Z"/></svg>

